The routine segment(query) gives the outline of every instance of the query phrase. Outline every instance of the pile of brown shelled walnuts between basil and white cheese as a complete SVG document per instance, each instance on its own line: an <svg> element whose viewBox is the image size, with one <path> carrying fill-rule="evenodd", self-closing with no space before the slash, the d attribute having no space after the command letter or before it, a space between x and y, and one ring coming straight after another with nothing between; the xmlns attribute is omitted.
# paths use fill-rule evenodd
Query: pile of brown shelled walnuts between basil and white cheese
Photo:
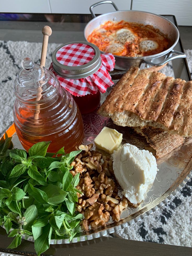
<svg viewBox="0 0 192 256"><path fill-rule="evenodd" d="M118 196L118 188L112 180L112 160L101 153L91 150L93 144L80 145L82 150L71 163L71 174L80 173L78 186L83 195L77 193L76 211L83 213L82 229L105 226L110 216L118 222L122 211L127 208L128 200Z"/></svg>

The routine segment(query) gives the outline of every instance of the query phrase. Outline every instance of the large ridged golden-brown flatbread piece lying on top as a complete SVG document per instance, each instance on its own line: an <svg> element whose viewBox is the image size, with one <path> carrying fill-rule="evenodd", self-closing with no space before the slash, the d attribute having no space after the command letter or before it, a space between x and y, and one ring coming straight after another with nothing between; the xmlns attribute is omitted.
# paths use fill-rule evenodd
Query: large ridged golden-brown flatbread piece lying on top
<svg viewBox="0 0 192 256"><path fill-rule="evenodd" d="M98 113L120 126L152 126L192 136L192 81L133 67L112 89Z"/></svg>

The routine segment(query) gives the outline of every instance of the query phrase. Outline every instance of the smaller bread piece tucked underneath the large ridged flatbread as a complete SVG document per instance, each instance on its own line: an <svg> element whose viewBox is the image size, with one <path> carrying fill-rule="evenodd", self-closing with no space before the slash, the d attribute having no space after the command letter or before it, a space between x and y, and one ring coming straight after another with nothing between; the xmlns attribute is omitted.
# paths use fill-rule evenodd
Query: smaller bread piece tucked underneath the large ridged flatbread
<svg viewBox="0 0 192 256"><path fill-rule="evenodd" d="M164 157L166 154L179 147L184 138L178 134L164 131L154 127L134 127L136 133L145 136L149 145L156 151L156 158Z"/></svg>

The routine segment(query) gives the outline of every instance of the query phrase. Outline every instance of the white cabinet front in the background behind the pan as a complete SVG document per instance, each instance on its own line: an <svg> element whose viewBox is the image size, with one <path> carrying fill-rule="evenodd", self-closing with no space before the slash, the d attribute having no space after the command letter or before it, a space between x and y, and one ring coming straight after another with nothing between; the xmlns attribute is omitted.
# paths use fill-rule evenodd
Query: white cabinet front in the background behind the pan
<svg viewBox="0 0 192 256"><path fill-rule="evenodd" d="M89 7L99 0L0 0L0 12L15 13L79 13L90 14ZM113 0L119 10L130 10L131 0ZM113 11L111 4L102 4L94 12ZM132 0L132 10L156 14L173 14L178 25L192 26L192 0Z"/></svg>

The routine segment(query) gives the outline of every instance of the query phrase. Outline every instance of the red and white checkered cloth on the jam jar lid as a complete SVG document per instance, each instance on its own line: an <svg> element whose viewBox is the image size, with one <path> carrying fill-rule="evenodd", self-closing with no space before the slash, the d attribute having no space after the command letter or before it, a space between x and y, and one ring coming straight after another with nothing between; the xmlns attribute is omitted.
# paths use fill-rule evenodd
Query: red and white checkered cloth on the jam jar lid
<svg viewBox="0 0 192 256"><path fill-rule="evenodd" d="M83 43L75 43L63 46L56 53L56 59L66 66L81 66L91 61L95 56L94 49ZM106 92L107 88L114 83L108 71L112 71L115 66L115 58L111 53L101 54L101 67L93 75L86 78L70 79L58 75L53 69L53 64L49 69L59 80L68 92L74 96L85 96L95 94L99 90L101 93Z"/></svg>

